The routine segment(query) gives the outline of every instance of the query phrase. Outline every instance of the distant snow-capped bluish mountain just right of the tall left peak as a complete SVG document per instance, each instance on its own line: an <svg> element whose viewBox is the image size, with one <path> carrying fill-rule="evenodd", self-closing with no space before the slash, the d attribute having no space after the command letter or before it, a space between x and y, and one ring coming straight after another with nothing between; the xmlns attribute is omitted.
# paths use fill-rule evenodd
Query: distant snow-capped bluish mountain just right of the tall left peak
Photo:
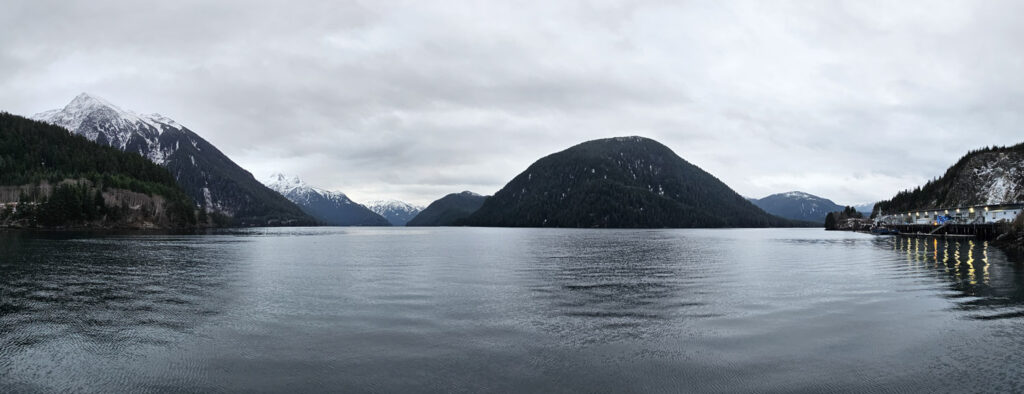
<svg viewBox="0 0 1024 394"><path fill-rule="evenodd" d="M297 176L271 174L263 180L267 187L295 203L303 212L333 226L387 226L387 219L343 192L312 187Z"/></svg>

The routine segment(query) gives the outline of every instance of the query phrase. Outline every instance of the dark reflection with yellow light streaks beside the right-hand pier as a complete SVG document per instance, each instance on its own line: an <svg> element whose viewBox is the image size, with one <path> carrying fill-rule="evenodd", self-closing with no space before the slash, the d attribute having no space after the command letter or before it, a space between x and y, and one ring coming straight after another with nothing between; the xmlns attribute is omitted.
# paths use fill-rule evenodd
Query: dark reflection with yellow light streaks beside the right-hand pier
<svg viewBox="0 0 1024 394"><path fill-rule="evenodd" d="M934 272L949 281L961 309L976 319L1024 316L1024 269L1020 263L989 261L1001 252L987 240L893 237L892 248L914 268Z"/></svg>

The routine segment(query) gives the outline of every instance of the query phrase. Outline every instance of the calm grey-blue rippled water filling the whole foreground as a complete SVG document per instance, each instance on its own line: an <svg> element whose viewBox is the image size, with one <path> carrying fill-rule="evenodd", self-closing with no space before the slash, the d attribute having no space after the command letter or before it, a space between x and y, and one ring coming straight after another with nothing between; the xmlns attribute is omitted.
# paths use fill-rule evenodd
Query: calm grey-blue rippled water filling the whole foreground
<svg viewBox="0 0 1024 394"><path fill-rule="evenodd" d="M817 229L0 233L0 392L1021 392L1024 267Z"/></svg>

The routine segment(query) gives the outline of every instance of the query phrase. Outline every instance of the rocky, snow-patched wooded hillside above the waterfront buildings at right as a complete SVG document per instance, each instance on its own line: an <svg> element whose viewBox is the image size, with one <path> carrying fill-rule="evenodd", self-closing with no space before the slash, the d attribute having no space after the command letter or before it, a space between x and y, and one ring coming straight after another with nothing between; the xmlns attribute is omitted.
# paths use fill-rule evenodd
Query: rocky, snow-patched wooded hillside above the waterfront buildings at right
<svg viewBox="0 0 1024 394"><path fill-rule="evenodd" d="M972 150L946 173L876 204L879 212L1024 202L1024 143Z"/></svg>

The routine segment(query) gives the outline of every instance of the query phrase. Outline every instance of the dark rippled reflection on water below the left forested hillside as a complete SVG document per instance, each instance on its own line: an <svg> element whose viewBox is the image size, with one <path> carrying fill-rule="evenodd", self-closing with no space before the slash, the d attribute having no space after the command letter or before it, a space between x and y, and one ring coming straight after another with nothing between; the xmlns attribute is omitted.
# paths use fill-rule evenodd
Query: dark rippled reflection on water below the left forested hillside
<svg viewBox="0 0 1024 394"><path fill-rule="evenodd" d="M224 312L224 261L239 256L219 250L222 240L144 239L0 232L0 370L48 364L61 373L49 389L60 391L118 381L126 371L106 356L173 346Z"/></svg>

